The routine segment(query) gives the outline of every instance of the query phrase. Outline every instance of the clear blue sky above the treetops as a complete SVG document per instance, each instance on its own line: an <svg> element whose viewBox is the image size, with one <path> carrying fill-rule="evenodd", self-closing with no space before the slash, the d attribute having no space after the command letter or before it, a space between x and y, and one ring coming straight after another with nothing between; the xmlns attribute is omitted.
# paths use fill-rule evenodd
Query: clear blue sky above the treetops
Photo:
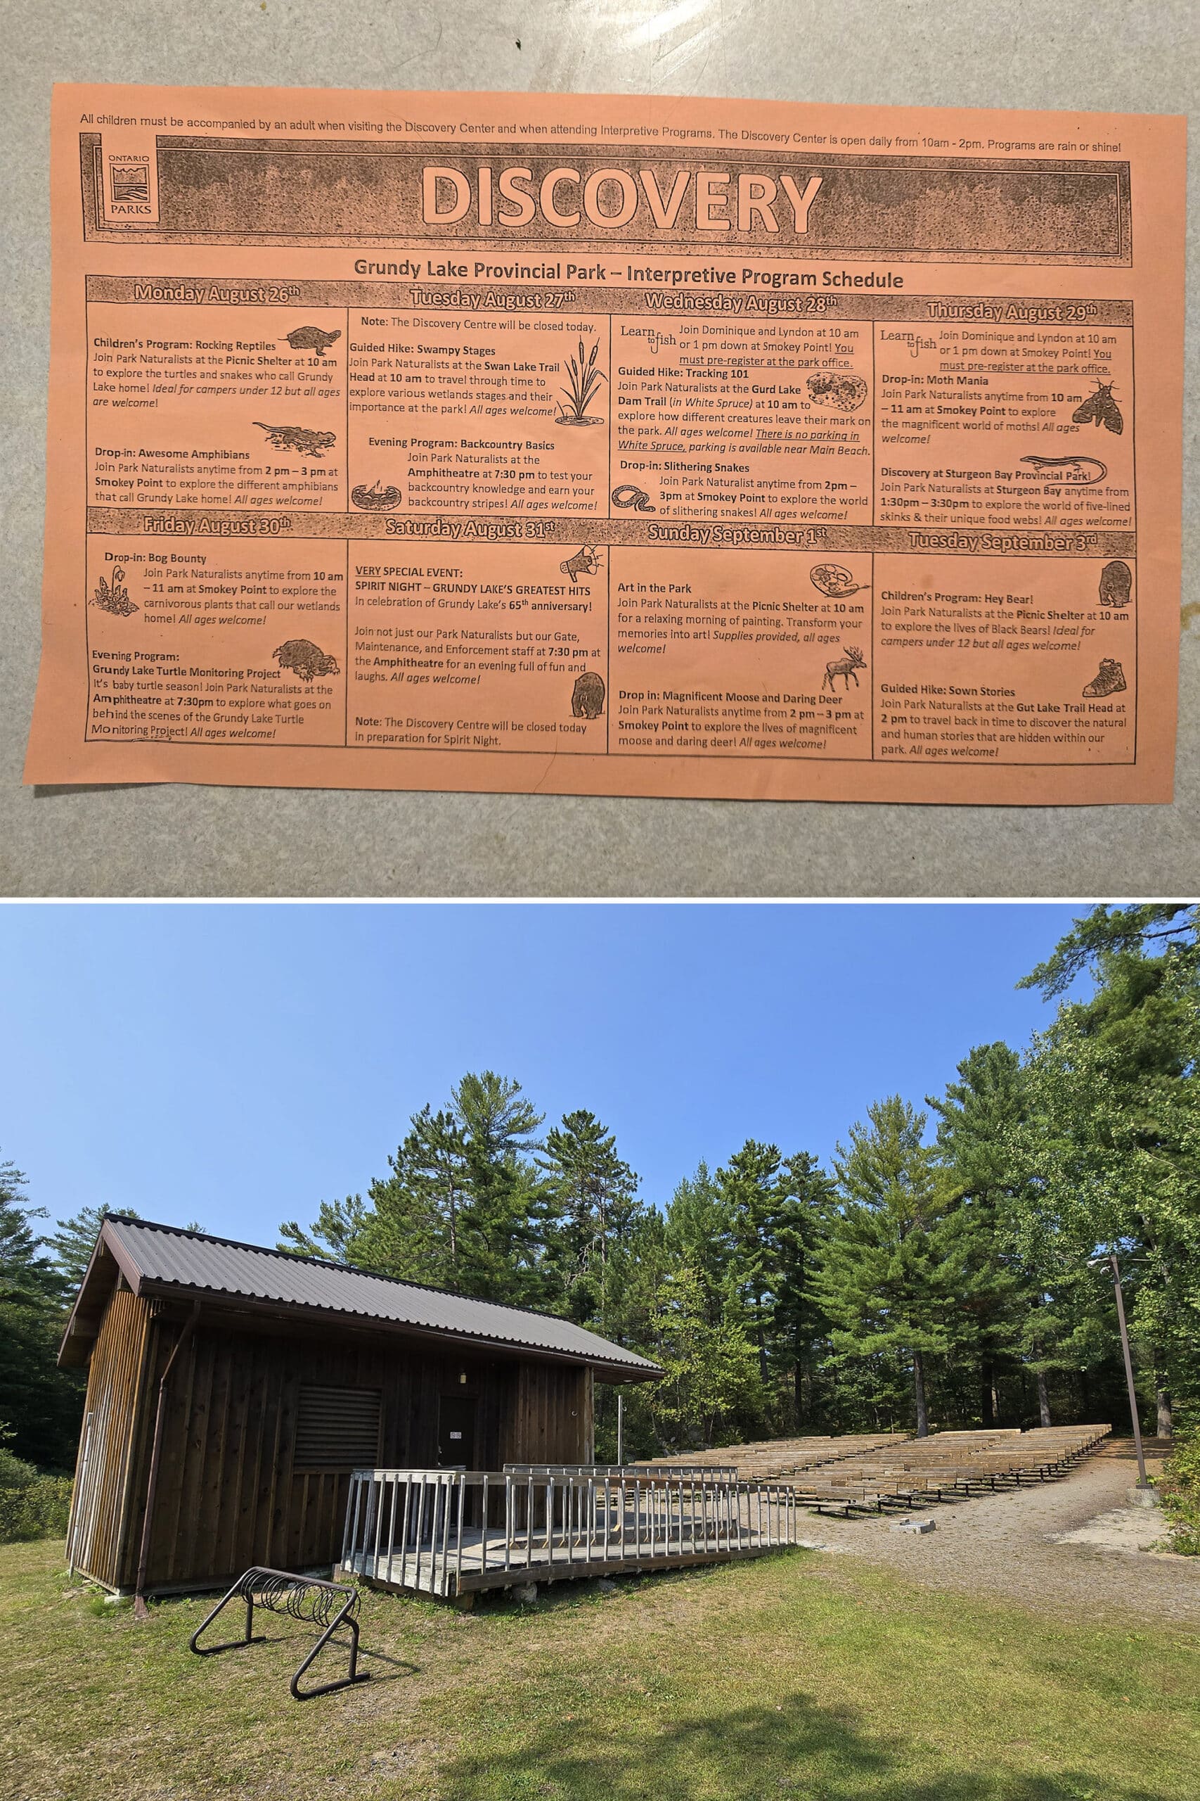
<svg viewBox="0 0 1200 1801"><path fill-rule="evenodd" d="M822 1158L1051 1018L1085 904L0 908L0 1158L31 1199L273 1243L464 1070L590 1108L664 1201L745 1138Z"/></svg>

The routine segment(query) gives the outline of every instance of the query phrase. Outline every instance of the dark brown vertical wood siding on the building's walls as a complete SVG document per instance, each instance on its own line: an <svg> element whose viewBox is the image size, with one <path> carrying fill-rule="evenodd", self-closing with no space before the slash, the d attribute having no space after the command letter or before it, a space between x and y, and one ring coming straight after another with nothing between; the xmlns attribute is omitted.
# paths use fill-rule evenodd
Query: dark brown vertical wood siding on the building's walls
<svg viewBox="0 0 1200 1801"><path fill-rule="evenodd" d="M119 1300L133 1297L113 1297L113 1308ZM146 1403L137 1432L131 1432L128 1401L115 1394L97 1425L99 1367L113 1362L117 1342L124 1345L126 1338L126 1363L131 1367L140 1358L142 1340L131 1331L126 1306L119 1315L110 1308L94 1353L97 1399L94 1405L90 1383L94 1425L90 1441L85 1432L81 1466L90 1466L86 1482L99 1482L110 1500L124 1491L126 1507L124 1531L112 1509L104 1513L110 1522L104 1569L81 1567L113 1587L133 1587L137 1576L158 1380L180 1331L182 1317L157 1318L149 1329ZM461 1381L464 1372L468 1380ZM299 1394L308 1383L381 1390L381 1464L437 1464L443 1394L477 1403L475 1462L480 1470L498 1470L506 1461L581 1462L588 1455L590 1372L585 1369L489 1358L399 1338L353 1342L333 1333L237 1331L201 1315L167 1383L148 1587L216 1585L232 1581L252 1563L302 1570L338 1556L349 1471L293 1471ZM122 1419L122 1455L133 1446L124 1489L119 1479L92 1475L92 1470L108 1471L113 1462L115 1416Z"/></svg>

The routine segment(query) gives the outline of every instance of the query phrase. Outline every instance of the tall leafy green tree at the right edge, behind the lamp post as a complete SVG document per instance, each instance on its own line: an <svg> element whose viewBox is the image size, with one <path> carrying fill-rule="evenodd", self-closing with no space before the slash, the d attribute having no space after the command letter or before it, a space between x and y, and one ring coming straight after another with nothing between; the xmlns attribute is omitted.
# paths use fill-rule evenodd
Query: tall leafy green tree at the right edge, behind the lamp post
<svg viewBox="0 0 1200 1801"><path fill-rule="evenodd" d="M1020 1235L1052 1246L1074 1297L1090 1288L1079 1286L1088 1255L1121 1252L1164 1437L1173 1394L1200 1399L1198 926L1184 902L1094 908L1022 983L1065 998L1027 1059L1033 1181ZM1081 976L1092 994L1070 998ZM1103 1288L1096 1308L1115 1345Z"/></svg>

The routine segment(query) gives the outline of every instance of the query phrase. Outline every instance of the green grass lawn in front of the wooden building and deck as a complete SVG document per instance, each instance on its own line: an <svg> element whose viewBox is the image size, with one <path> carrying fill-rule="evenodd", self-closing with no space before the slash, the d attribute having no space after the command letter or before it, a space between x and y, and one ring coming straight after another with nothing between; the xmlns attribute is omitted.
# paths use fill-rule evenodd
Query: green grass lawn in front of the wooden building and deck
<svg viewBox="0 0 1200 1801"><path fill-rule="evenodd" d="M563 1587L455 1614L367 1592L372 1680L297 1704L311 1630L198 1659L0 1547L5 1801L1195 1801L1200 1648L909 1587L853 1558ZM333 1670L329 1671L335 1673ZM313 1671L311 1679L318 1679Z"/></svg>

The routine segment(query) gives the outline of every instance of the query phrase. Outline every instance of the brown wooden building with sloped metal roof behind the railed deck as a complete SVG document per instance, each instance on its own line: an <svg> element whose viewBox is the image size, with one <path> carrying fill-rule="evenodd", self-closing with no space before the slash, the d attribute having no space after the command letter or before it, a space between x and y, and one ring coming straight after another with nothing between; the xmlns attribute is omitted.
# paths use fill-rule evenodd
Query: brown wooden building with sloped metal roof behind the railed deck
<svg viewBox="0 0 1200 1801"><path fill-rule="evenodd" d="M351 1471L590 1464L570 1320L106 1214L59 1363L88 1367L68 1560L122 1594L335 1563Z"/></svg>

